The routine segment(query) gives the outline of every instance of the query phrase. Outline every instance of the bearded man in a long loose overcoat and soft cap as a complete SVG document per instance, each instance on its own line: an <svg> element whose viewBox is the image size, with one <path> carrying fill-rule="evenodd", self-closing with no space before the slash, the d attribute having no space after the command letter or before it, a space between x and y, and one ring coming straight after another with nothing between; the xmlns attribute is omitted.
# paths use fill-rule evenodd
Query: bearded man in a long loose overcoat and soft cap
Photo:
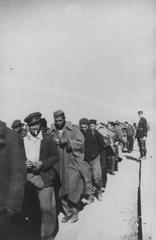
<svg viewBox="0 0 156 240"><path fill-rule="evenodd" d="M57 142L60 164L57 168L61 179L59 199L64 217L62 222L78 220L79 202L84 193L81 163L84 161L84 137L79 128L66 121L62 110L53 113L54 123L50 136Z"/></svg>

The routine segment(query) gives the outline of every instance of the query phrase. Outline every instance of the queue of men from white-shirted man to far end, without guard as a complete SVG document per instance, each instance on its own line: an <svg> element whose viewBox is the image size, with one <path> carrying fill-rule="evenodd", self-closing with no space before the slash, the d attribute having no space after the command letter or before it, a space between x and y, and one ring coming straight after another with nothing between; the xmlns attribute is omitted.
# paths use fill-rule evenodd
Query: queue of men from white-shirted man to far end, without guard
<svg viewBox="0 0 156 240"><path fill-rule="evenodd" d="M48 128L42 114L34 112L25 123L15 120L11 126L27 169L20 223L26 226L25 234L35 230L42 240L56 236L60 212L62 222L74 223L86 204L102 200L107 174L116 174L125 148L133 150L136 132L128 122L97 124L95 119L81 118L74 125L62 110L53 118Z"/></svg>

